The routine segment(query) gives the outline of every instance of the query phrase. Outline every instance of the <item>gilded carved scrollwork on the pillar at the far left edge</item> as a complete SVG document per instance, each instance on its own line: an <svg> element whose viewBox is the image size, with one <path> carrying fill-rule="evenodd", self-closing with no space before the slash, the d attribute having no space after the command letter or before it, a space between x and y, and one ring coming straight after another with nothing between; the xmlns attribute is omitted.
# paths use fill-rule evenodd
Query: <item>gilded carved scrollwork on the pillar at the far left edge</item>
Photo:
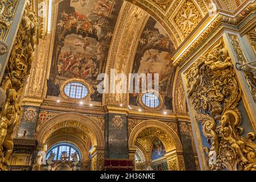
<svg viewBox="0 0 256 182"><path fill-rule="evenodd" d="M10 1L10 3L12 2ZM9 13L11 12L12 10ZM37 43L37 27L37 17L32 11L31 1L27 1L6 67L5 78L1 85L7 97L0 113L0 170L6 170L6 166L9 165L9 157L13 151L13 133L20 122L21 111L19 105L24 82L30 73L31 63L34 61L33 52Z"/></svg>

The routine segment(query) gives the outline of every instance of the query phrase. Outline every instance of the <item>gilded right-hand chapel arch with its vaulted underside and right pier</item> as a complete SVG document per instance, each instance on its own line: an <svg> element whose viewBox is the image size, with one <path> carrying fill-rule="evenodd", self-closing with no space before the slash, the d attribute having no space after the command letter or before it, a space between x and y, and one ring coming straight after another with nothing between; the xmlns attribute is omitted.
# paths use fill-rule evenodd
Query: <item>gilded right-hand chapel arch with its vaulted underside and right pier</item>
<svg viewBox="0 0 256 182"><path fill-rule="evenodd" d="M152 160L151 153L155 139L159 139L162 142L164 152L162 151L162 155L159 158ZM175 131L166 125L166 123L155 120L139 123L131 131L129 148L139 148L142 151L145 156L145 165L143 168L148 169L161 164L166 165L165 170L175 171L183 169L182 166L184 166L184 163L180 139Z"/></svg>

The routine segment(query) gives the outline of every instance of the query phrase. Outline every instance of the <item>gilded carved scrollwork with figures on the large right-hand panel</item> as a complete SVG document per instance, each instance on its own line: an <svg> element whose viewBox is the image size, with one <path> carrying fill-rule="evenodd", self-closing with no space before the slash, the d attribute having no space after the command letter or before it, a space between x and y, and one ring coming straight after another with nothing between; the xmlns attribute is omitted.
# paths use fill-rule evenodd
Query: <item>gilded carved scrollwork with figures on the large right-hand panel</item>
<svg viewBox="0 0 256 182"><path fill-rule="evenodd" d="M195 119L210 144L210 148L204 148L207 168L255 170L255 135L242 137L237 109L242 92L223 40L201 56L185 76Z"/></svg>

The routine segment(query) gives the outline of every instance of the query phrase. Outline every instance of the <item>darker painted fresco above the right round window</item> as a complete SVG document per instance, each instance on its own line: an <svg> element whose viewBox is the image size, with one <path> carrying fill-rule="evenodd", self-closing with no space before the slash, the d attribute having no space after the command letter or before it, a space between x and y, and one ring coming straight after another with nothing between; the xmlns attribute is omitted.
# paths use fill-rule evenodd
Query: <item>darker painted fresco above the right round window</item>
<svg viewBox="0 0 256 182"><path fill-rule="evenodd" d="M173 65L171 58L175 51L174 44L159 23L149 18L144 28L132 73L159 73L159 93L164 98L165 109L172 109L171 90ZM130 94L130 105L138 105L139 94Z"/></svg>

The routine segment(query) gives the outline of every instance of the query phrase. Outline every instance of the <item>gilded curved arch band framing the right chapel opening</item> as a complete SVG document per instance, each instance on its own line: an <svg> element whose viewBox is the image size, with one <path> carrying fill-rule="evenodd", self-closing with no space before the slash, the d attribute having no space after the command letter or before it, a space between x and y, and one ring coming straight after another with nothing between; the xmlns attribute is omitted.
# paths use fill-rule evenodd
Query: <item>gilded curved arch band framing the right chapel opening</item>
<svg viewBox="0 0 256 182"><path fill-rule="evenodd" d="M175 133L174 130L171 129L170 126L166 125L163 122L156 120L147 120L139 123L132 131L129 137L129 147L134 147L136 143L136 139L139 133L141 133L144 129L149 127L155 127L160 129L170 135L170 137L174 140L176 151L182 151L182 146L179 137ZM168 151L167 151L168 152Z"/></svg>

